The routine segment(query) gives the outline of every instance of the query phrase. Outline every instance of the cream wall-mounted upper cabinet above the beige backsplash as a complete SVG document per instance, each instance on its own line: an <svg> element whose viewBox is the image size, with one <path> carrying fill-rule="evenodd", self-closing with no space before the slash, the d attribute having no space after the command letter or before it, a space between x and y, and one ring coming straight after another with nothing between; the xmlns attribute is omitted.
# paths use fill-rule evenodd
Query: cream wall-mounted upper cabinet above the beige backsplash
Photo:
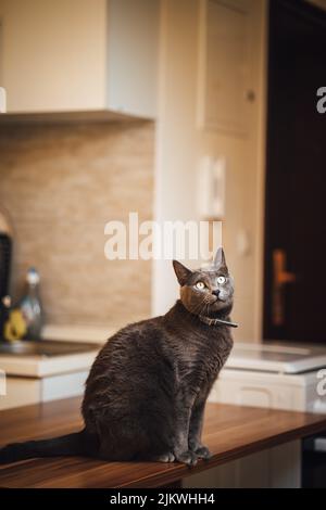
<svg viewBox="0 0 326 510"><path fill-rule="evenodd" d="M0 0L8 114L154 118L159 3Z"/></svg>

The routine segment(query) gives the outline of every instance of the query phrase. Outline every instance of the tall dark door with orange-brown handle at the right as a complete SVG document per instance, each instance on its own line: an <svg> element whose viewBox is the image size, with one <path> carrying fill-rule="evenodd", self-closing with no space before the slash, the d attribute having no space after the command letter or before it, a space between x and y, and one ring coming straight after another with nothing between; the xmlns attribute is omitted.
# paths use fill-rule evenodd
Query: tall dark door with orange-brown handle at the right
<svg viewBox="0 0 326 510"><path fill-rule="evenodd" d="M326 13L269 3L264 339L326 345Z"/></svg>

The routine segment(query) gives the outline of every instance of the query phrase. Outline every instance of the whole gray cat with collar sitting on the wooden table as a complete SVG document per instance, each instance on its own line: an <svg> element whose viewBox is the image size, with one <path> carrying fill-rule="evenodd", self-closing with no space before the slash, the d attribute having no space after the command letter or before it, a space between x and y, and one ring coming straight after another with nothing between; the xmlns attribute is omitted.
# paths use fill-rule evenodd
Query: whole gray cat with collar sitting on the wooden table
<svg viewBox="0 0 326 510"><path fill-rule="evenodd" d="M222 248L209 268L173 265L180 299L166 315L118 331L95 360L82 408L85 429L8 445L1 463L71 455L186 464L209 459L203 413L233 347L234 284Z"/></svg>

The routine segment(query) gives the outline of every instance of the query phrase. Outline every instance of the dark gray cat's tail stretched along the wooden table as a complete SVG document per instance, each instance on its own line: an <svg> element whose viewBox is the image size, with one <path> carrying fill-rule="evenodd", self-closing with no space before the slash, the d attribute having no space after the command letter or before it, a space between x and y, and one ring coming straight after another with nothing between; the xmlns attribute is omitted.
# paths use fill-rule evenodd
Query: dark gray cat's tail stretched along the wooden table
<svg viewBox="0 0 326 510"><path fill-rule="evenodd" d="M98 451L97 437L86 429L73 434L51 439L27 441L14 443L0 449L0 464L17 462L36 457L85 456L96 457Z"/></svg>

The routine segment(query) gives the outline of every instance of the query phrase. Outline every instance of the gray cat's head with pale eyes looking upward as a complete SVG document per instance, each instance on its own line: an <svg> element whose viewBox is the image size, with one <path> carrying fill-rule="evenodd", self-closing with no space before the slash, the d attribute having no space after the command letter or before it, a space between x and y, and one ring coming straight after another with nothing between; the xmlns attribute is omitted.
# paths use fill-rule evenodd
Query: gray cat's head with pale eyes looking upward
<svg viewBox="0 0 326 510"><path fill-rule="evenodd" d="M188 311L212 318L230 311L234 281L222 247L210 267L190 270L178 260L173 260L173 267L180 284L180 299Z"/></svg>

